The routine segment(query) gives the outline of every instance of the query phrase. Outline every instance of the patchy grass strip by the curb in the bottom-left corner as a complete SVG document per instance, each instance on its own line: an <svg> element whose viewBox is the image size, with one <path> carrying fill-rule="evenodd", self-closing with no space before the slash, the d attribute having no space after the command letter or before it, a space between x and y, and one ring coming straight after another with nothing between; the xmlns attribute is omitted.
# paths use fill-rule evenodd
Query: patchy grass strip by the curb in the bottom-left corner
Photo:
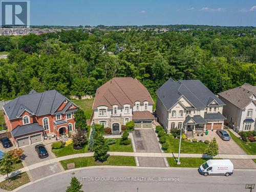
<svg viewBox="0 0 256 192"><path fill-rule="evenodd" d="M29 176L26 172L24 172L12 177L11 183L8 183L8 180L2 181L0 183L0 187L5 190L13 190L29 182L30 182Z"/></svg>

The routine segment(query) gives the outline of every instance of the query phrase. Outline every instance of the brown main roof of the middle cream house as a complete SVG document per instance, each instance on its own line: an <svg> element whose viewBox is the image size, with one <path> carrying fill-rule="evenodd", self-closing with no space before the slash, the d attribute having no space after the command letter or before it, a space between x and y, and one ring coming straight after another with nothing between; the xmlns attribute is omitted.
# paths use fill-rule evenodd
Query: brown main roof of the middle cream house
<svg viewBox="0 0 256 192"><path fill-rule="evenodd" d="M132 77L114 77L100 86L95 94L93 109L100 105L112 108L114 104L123 106L133 105L135 101L148 101L153 104L150 93L143 84Z"/></svg>

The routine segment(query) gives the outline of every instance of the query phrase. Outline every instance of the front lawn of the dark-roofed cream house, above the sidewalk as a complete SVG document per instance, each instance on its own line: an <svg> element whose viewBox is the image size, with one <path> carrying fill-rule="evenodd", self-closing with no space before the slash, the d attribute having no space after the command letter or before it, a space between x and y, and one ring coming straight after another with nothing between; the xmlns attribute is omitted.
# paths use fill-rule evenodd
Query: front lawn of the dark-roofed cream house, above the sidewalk
<svg viewBox="0 0 256 192"><path fill-rule="evenodd" d="M167 136L167 143L169 144L169 147L167 150L165 150L165 153L178 153L179 152L179 139L173 138L173 136L168 135ZM195 154L203 154L205 148L207 147L207 144L202 142L188 142L185 140L181 141L181 153L195 153Z"/></svg>

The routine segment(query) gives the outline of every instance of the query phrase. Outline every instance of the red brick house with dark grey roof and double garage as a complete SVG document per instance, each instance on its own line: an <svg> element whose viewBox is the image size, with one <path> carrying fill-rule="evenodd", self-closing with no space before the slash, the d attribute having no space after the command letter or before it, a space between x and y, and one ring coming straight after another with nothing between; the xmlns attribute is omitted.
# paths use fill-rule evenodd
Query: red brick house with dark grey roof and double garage
<svg viewBox="0 0 256 192"><path fill-rule="evenodd" d="M40 142L45 136L74 131L78 107L56 90L19 96L4 105L4 117L17 146Z"/></svg>

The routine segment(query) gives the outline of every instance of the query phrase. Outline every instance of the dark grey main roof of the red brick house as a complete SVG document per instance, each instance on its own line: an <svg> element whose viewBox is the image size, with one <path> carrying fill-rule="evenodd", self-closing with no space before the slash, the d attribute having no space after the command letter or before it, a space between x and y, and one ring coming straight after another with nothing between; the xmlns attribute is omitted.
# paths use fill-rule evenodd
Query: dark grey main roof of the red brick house
<svg viewBox="0 0 256 192"><path fill-rule="evenodd" d="M66 97L56 90L37 93L34 90L4 105L9 119L16 119L24 110L36 116L53 114Z"/></svg>

